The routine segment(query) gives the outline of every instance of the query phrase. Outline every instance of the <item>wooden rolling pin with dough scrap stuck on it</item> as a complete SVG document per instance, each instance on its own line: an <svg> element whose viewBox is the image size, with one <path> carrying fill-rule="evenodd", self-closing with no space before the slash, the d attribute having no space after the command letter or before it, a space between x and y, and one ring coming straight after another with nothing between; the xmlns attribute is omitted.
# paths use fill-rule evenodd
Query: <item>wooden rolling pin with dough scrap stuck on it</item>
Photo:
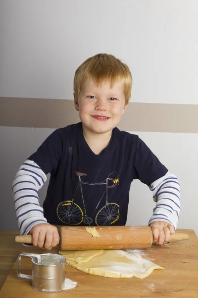
<svg viewBox="0 0 198 298"><path fill-rule="evenodd" d="M152 230L148 225L95 228L100 237L94 237L87 232L85 226L59 226L60 250L149 248L153 243ZM189 235L184 233L174 233L170 236L171 242L188 239ZM31 244L32 235L15 236L15 242Z"/></svg>

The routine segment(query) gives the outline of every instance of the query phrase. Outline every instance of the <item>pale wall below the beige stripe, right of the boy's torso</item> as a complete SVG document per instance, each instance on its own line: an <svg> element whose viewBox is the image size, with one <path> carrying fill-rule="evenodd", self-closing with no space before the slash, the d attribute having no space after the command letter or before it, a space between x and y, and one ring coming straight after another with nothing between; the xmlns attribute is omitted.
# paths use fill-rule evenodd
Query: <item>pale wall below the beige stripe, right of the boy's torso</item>
<svg viewBox="0 0 198 298"><path fill-rule="evenodd" d="M131 133L139 135L159 160L178 177L181 187L178 228L193 228L198 234L198 134ZM154 207L148 186L134 181L130 190L127 224L148 224Z"/></svg>

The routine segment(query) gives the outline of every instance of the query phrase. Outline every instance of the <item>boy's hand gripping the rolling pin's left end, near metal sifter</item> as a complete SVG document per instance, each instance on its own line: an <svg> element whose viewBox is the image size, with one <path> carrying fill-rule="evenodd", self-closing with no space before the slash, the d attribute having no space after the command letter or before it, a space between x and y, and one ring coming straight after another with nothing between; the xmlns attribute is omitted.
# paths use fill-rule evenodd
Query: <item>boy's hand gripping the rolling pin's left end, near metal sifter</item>
<svg viewBox="0 0 198 298"><path fill-rule="evenodd" d="M57 227L52 224L35 224L29 233L34 246L50 250L59 243Z"/></svg>

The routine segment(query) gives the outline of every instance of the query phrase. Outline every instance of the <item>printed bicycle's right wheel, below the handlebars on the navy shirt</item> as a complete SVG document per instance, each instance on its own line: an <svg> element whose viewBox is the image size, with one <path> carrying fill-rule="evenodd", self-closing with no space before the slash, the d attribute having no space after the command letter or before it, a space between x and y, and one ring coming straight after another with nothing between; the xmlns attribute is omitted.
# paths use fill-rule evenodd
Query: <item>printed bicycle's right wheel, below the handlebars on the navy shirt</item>
<svg viewBox="0 0 198 298"><path fill-rule="evenodd" d="M109 203L102 207L96 215L95 223L97 225L111 225L119 219L119 205L116 203Z"/></svg>

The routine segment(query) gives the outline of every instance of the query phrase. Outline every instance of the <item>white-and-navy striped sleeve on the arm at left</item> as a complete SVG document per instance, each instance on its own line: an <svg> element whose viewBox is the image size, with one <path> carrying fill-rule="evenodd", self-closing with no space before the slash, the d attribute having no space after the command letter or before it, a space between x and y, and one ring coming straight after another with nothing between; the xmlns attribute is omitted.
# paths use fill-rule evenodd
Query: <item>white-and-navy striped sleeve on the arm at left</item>
<svg viewBox="0 0 198 298"><path fill-rule="evenodd" d="M39 189L46 182L46 174L33 160L27 159L12 182L12 195L21 235L26 235L35 224L47 223L39 204Z"/></svg>

